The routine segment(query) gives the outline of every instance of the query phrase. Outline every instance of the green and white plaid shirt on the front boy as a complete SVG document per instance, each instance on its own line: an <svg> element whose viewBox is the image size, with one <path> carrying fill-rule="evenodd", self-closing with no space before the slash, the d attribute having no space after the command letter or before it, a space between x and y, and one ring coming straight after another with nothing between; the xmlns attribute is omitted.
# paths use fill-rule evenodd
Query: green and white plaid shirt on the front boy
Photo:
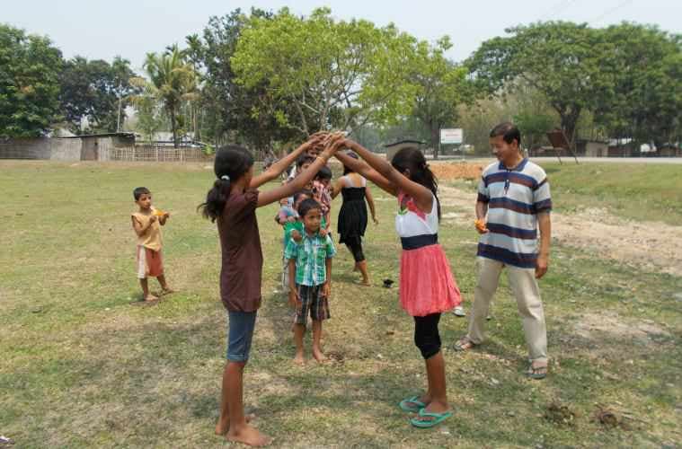
<svg viewBox="0 0 682 449"><path fill-rule="evenodd" d="M336 255L332 238L316 233L313 237L303 233L303 240L297 243L289 239L284 257L296 259L296 283L299 286L321 286L327 280L327 259Z"/></svg>

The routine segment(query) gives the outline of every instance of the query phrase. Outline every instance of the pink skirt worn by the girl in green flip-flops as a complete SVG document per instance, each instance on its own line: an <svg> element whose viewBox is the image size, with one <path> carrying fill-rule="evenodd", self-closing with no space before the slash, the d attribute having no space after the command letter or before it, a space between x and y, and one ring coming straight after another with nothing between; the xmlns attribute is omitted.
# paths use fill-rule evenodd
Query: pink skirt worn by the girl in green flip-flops
<svg viewBox="0 0 682 449"><path fill-rule="evenodd" d="M412 316L443 313L462 303L445 251L439 244L403 250L400 304Z"/></svg>

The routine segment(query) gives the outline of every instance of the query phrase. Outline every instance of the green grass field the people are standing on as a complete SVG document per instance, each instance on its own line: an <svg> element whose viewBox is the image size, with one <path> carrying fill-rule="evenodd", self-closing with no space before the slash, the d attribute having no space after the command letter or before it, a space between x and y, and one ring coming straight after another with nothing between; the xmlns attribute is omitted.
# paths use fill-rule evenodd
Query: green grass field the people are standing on
<svg viewBox="0 0 682 449"><path fill-rule="evenodd" d="M598 192L608 190L622 192L623 203L646 201L661 212L624 206L626 216L678 223L663 211L680 216L680 189L668 191L677 185L669 172L651 179L655 170L614 164L579 172L564 164L547 171L564 211L598 203ZM0 171L0 434L16 447L228 445L213 435L226 349L217 231L196 213L212 171L7 161ZM139 185L172 213L164 256L177 293L155 306L137 303L128 216ZM397 280L399 243L394 200L374 192L381 223L369 226L365 253L378 284ZM340 203L333 207L335 215ZM454 352L466 320L441 320L456 414L441 427L417 430L397 407L425 385L412 319L400 309L397 289L352 283L343 248L334 260L332 320L323 338L335 362L291 363L291 312L273 293L281 251L275 211L259 210L264 301L245 376L247 410L275 447L682 445L682 278L554 246L541 282L550 375L523 375L521 323L503 278L484 346ZM476 234L444 223L440 242L468 310ZM616 425L601 423L599 409L615 412Z"/></svg>

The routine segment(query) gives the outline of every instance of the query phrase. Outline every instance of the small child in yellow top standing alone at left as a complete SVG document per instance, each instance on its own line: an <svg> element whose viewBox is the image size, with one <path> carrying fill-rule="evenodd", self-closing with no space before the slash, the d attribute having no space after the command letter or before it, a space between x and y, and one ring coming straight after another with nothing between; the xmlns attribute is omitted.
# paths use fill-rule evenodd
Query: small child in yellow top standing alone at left
<svg viewBox="0 0 682 449"><path fill-rule="evenodd" d="M159 298L149 293L147 277L158 279L163 295L173 293L165 281L164 261L161 257L161 226L165 225L171 215L152 206L152 193L146 187L134 189L133 198L138 207L137 212L130 215L133 229L137 233L137 278L142 286L143 299L155 301Z"/></svg>

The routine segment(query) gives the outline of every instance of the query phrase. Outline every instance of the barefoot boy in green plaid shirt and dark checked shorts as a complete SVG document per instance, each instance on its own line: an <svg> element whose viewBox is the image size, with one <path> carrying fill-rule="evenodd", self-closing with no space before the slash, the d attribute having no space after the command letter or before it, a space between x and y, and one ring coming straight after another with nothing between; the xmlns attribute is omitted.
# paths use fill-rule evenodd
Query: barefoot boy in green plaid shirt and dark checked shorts
<svg viewBox="0 0 682 449"><path fill-rule="evenodd" d="M332 257L336 254L329 235L321 233L322 207L312 198L298 208L304 232L300 242L289 239L285 258L288 260L289 301L296 306L294 340L297 364L306 362L303 338L306 335L307 315L313 320L313 357L322 363L322 321L329 320L329 295L332 293Z"/></svg>

